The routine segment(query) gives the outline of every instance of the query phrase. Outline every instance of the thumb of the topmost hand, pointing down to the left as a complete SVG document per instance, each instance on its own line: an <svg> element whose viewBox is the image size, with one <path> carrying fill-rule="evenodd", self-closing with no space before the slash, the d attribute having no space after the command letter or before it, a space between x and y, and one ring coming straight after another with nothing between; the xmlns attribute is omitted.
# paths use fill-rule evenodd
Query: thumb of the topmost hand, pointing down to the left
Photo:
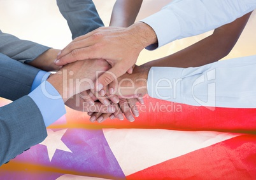
<svg viewBox="0 0 256 180"><path fill-rule="evenodd" d="M128 67L129 68L129 67ZM107 72L104 72L96 82L96 91L101 91L103 87L108 86L110 82L112 82L114 79L117 79L121 75L125 74L125 72L128 70L127 67L123 63L117 63L114 65L114 67L110 68Z"/></svg>

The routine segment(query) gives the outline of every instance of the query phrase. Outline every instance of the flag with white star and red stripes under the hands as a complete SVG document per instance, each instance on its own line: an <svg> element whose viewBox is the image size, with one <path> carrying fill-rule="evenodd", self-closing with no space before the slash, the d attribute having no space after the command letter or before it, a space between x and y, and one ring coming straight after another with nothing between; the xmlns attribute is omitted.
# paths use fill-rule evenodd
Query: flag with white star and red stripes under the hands
<svg viewBox="0 0 256 180"><path fill-rule="evenodd" d="M135 122L90 123L68 109L0 179L256 179L255 122L256 109L151 98Z"/></svg>

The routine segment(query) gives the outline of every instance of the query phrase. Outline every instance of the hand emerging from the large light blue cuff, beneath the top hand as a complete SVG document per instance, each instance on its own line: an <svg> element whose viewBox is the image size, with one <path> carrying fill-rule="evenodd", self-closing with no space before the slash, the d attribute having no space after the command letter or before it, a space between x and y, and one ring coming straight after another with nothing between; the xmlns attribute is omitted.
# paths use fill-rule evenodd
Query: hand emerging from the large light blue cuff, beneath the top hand
<svg viewBox="0 0 256 180"><path fill-rule="evenodd" d="M109 68L110 65L104 60L76 61L65 65L47 81L57 89L65 103L75 94L92 89L97 75Z"/></svg>

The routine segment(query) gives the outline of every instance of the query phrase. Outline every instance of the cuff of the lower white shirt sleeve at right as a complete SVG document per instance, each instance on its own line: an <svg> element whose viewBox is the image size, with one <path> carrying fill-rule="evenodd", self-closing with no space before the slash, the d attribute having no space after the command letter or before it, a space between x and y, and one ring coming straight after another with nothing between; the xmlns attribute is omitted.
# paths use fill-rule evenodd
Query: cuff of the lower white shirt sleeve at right
<svg viewBox="0 0 256 180"><path fill-rule="evenodd" d="M152 67L148 73L148 95L159 100L183 103L181 75L184 68Z"/></svg>

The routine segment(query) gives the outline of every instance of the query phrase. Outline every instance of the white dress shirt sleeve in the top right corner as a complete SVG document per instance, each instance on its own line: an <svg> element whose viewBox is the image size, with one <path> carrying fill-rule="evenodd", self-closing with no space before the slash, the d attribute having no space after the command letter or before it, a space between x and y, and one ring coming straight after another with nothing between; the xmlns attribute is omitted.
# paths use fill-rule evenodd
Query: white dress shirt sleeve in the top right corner
<svg viewBox="0 0 256 180"><path fill-rule="evenodd" d="M155 31L158 46L201 34L253 11L256 0L176 0L144 22ZM157 46L148 46L154 49Z"/></svg>

